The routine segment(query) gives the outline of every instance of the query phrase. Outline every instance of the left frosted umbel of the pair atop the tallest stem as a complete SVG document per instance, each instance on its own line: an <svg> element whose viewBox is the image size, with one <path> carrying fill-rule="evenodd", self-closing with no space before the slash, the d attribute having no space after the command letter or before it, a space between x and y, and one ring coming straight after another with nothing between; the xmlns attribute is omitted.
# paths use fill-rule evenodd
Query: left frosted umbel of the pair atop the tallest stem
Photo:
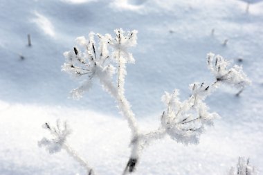
<svg viewBox="0 0 263 175"><path fill-rule="evenodd" d="M96 48L94 36L98 37L99 46ZM100 71L108 70L111 66L109 61L109 50L107 48L107 38L105 36L89 33L89 39L78 37L75 39L77 46L64 53L66 62L62 66L62 71L80 77L88 75L89 78L100 75ZM84 49L84 52L82 50ZM112 71L107 72L112 75Z"/></svg>

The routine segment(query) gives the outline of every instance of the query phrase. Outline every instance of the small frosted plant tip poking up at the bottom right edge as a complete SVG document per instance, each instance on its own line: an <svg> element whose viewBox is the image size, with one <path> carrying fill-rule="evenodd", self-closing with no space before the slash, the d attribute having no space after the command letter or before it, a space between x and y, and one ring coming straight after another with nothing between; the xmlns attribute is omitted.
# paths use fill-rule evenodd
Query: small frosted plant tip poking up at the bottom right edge
<svg viewBox="0 0 263 175"><path fill-rule="evenodd" d="M249 159L239 157L237 169L231 167L228 175L257 175L255 167L249 165Z"/></svg>

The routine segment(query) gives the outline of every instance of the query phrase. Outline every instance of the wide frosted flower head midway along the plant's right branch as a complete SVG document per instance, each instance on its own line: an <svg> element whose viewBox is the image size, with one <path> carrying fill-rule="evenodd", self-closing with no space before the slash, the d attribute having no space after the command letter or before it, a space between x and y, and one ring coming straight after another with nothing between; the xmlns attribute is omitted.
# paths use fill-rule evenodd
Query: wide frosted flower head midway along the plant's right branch
<svg viewBox="0 0 263 175"><path fill-rule="evenodd" d="M179 91L170 94L165 92L162 101L167 105L167 111L161 118L162 127L170 138L185 145L199 143L199 136L204 131L204 125L212 125L217 113L209 113L203 102L209 86L198 83L191 84L192 95L188 100L180 102Z"/></svg>

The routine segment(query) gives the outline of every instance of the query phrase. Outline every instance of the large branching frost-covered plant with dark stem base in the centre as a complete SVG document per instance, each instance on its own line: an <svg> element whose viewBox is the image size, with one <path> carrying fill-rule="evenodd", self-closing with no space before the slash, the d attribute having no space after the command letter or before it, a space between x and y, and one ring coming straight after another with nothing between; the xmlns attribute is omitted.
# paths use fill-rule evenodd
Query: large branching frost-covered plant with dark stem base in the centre
<svg viewBox="0 0 263 175"><path fill-rule="evenodd" d="M93 80L98 78L103 89L116 100L118 109L127 119L131 129L131 154L123 174L134 172L141 151L153 140L168 135L176 142L185 145L197 144L199 136L205 131L205 126L212 125L213 120L219 118L217 113L209 111L204 102L206 97L215 91L221 83L234 85L239 89L250 84L242 67L228 68L229 63L223 57L209 53L207 56L208 68L215 76L215 82L210 85L203 82L190 84L192 95L182 102L179 99L179 90L175 89L171 94L165 92L161 99L167 109L161 115L160 127L144 133L137 125L124 91L126 64L134 63L134 57L129 53L129 48L136 45L137 31L125 32L120 28L114 32L115 37L96 33L90 33L89 39L78 37L76 39L77 45L64 53L66 62L62 66L62 71L73 75L73 77L84 79L78 88L71 91L73 98L81 98L84 92L91 88ZM97 42L98 44L96 44ZM63 140L62 145L64 145ZM60 142L56 144L61 145ZM84 161L81 162L84 163Z"/></svg>

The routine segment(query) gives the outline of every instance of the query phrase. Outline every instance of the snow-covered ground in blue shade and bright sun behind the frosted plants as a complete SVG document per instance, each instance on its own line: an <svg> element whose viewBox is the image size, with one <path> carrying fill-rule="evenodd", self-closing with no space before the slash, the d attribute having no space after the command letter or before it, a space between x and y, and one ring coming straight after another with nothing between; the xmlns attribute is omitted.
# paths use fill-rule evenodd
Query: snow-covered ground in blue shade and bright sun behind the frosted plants
<svg viewBox="0 0 263 175"><path fill-rule="evenodd" d="M99 85L79 101L78 86L60 66L75 37L138 30L128 65L127 99L140 128L159 125L164 91L212 82L206 53L235 64L242 58L253 84L235 97L220 89L208 98L221 120L185 147L165 138L145 150L135 174L226 174L239 156L263 172L263 1L1 0L0 3L0 174L83 174L65 152L49 155L37 146L42 124L57 118L73 129L69 142L98 174L121 174L129 157L129 129L114 100ZM211 30L214 29L214 35ZM27 35L32 47L26 46ZM222 46L225 39L228 44ZM21 59L23 55L24 59Z"/></svg>

